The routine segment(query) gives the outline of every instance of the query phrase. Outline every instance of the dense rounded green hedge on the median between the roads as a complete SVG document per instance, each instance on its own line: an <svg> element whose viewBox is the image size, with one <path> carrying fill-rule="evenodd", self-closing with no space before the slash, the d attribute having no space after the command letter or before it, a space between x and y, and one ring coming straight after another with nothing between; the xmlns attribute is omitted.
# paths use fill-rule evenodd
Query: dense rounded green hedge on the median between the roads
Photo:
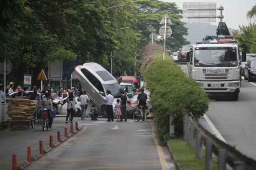
<svg viewBox="0 0 256 170"><path fill-rule="evenodd" d="M150 91L150 102L157 112L158 135L162 142L169 137L169 116L173 116L175 137L182 137L183 115L200 118L208 110L209 98L200 85L187 78L172 59L155 59L143 70Z"/></svg>

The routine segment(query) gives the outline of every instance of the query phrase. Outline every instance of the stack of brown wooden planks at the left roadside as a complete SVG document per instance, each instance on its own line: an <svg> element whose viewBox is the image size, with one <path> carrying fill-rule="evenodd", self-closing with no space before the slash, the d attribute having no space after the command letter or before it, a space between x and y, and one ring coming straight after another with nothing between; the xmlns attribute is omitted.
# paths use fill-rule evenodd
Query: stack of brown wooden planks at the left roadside
<svg viewBox="0 0 256 170"><path fill-rule="evenodd" d="M24 98L10 98L6 114L9 120L31 120L37 110L38 101Z"/></svg>

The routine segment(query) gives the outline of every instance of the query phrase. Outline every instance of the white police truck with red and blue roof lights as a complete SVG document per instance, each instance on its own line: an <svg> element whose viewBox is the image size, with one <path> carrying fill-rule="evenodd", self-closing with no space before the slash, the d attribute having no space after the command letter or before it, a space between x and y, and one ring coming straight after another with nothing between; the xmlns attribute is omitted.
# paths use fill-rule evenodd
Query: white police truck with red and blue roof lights
<svg viewBox="0 0 256 170"><path fill-rule="evenodd" d="M222 40L220 40L222 39ZM233 36L206 36L187 53L187 75L208 93L232 93L238 100L241 85L241 61L246 58ZM245 56L245 57L244 57Z"/></svg>

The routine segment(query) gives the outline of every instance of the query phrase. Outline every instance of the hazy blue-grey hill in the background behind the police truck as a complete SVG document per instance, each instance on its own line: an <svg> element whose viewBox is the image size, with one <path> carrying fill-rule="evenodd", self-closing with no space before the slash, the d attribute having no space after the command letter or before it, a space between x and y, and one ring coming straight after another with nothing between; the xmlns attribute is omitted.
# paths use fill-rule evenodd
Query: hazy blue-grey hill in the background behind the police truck
<svg viewBox="0 0 256 170"><path fill-rule="evenodd" d="M185 27L189 28L189 35L185 35L184 38L190 41L190 44L195 44L201 42L206 35L216 35L218 26L210 23L187 23ZM232 35L232 28L229 28L229 33Z"/></svg>

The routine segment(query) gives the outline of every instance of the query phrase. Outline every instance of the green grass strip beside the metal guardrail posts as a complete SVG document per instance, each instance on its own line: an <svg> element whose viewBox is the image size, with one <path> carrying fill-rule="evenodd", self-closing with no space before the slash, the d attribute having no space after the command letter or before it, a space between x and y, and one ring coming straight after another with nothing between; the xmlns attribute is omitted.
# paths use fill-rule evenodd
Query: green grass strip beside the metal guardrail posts
<svg viewBox="0 0 256 170"><path fill-rule="evenodd" d="M168 140L170 149L182 170L205 170L205 150L202 150L202 158L196 158L196 149L189 148L187 141L182 139ZM218 170L217 157L212 159L213 170Z"/></svg>

